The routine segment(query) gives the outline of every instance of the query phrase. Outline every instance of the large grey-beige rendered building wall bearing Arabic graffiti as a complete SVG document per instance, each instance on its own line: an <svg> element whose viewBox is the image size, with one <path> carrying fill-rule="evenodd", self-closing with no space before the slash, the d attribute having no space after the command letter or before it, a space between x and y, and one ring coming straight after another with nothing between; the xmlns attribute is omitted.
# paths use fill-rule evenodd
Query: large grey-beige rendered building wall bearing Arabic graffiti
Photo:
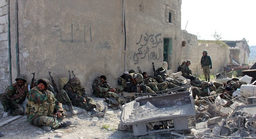
<svg viewBox="0 0 256 139"><path fill-rule="evenodd" d="M58 78L73 70L91 94L96 76L106 75L116 87L126 70L140 66L153 73L152 62L162 66L164 38L172 39L168 65L177 69L180 7L181 0L18 0L17 65L16 10L10 1L12 80L25 73L30 82L33 72L37 79L49 78L50 71L59 85ZM172 23L167 21L170 11Z"/></svg>

